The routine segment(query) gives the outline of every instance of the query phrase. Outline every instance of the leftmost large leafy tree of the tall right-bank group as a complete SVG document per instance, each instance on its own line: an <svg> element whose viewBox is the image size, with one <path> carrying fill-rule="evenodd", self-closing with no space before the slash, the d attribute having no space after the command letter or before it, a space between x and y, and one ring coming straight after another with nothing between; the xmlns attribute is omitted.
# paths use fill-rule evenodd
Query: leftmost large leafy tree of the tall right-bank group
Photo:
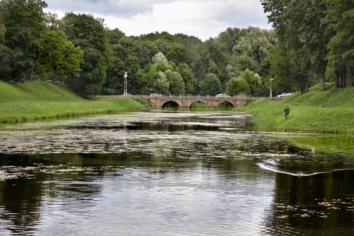
<svg viewBox="0 0 354 236"><path fill-rule="evenodd" d="M273 22L278 40L286 48L290 61L299 70L298 75L304 78L301 83L303 92L308 92L307 78L311 71L318 75L320 90L325 90L325 71L329 53L326 46L335 35L333 25L340 18L331 9L337 8L342 2L342 0L262 0L264 12L269 13L268 19L269 22ZM326 15L327 12L332 15ZM338 64L338 60L334 61Z"/></svg>

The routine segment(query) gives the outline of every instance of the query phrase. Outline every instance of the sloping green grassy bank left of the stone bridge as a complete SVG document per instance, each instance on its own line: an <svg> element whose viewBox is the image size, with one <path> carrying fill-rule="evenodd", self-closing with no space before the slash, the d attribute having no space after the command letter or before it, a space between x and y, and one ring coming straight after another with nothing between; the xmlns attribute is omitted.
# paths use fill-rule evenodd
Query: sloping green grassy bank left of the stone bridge
<svg viewBox="0 0 354 236"><path fill-rule="evenodd" d="M147 107L138 99L95 100L98 98L80 96L60 83L0 81L0 122L118 113Z"/></svg>

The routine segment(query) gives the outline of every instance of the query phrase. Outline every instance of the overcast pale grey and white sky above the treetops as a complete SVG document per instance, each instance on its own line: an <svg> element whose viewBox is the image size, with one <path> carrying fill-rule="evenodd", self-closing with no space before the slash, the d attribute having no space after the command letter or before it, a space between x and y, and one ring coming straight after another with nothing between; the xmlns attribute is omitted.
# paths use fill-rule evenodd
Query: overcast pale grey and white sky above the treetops
<svg viewBox="0 0 354 236"><path fill-rule="evenodd" d="M228 27L272 28L259 0L45 0L45 11L91 13L126 36L167 31L202 41Z"/></svg>

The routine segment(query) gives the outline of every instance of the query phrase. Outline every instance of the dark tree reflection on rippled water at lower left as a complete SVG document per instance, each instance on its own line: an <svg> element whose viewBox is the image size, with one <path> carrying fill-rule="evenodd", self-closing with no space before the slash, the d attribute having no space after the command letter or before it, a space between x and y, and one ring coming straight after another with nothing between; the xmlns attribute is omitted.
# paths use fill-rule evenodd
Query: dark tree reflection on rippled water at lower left
<svg viewBox="0 0 354 236"><path fill-rule="evenodd" d="M10 178L0 181L0 218L4 222L0 225L16 235L32 235L38 230L41 207L50 198L65 193L70 202L81 203L81 211L91 203L96 204L95 197L102 189L91 184L94 179L90 179L90 175L103 176L107 171L102 168L103 163L121 164L113 157L101 160L99 155L91 154L0 154L0 160L1 166L11 163L7 173L16 172L16 176L9 175ZM94 173L90 174L92 170ZM68 202L60 204L70 208ZM72 207L75 211L75 206Z"/></svg>

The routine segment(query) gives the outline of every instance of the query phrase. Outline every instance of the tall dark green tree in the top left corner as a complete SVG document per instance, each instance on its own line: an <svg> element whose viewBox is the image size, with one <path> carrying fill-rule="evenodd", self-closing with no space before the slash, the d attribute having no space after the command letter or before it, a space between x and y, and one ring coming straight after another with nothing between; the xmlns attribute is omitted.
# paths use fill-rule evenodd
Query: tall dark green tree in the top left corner
<svg viewBox="0 0 354 236"><path fill-rule="evenodd" d="M39 40L45 33L41 0L3 0L0 2L3 45L0 47L0 75L15 82L32 72Z"/></svg>

